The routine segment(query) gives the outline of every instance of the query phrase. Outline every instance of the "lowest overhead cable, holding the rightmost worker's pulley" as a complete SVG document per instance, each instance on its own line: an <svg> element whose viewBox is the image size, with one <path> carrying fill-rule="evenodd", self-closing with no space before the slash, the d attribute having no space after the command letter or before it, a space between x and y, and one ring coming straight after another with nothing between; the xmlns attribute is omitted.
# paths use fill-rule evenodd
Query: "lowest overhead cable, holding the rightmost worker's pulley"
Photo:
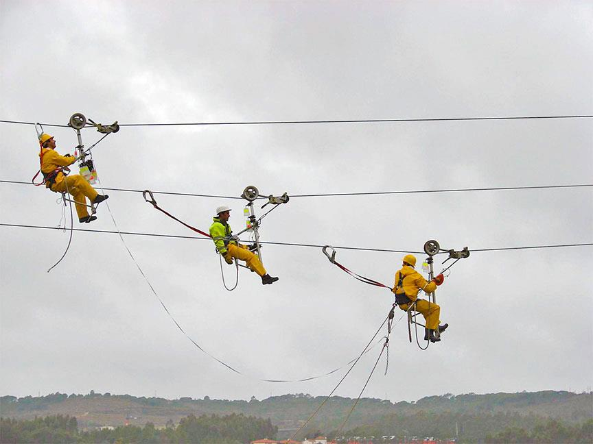
<svg viewBox="0 0 593 444"><path fill-rule="evenodd" d="M56 227L47 227L44 225L25 225L19 223L0 223L3 227L19 227L19 228L38 228L43 230L61 230ZM85 228L73 228L73 231L78 232L89 232L89 233L103 233L103 234L118 234L117 231L112 230L89 230ZM211 238L201 236L181 236L177 234L159 234L159 233L141 233L141 232L123 232L121 234L129 234L130 236L152 236L161 238L178 238L178 239L197 239L197 240L212 240ZM306 244L306 243L291 243L291 242L259 242L260 244L267 245L287 245L290 247L310 247L310 248L323 248L325 245L317 244ZM505 250L521 250L521 249L544 249L544 248L563 248L563 247L591 247L593 243L572 243L572 244L556 244L556 245L531 245L527 247L497 247L497 248L472 248L469 251L505 251ZM384 249L384 248L364 248L364 247L344 247L332 245L334 249L347 249L357 251L377 251L381 253L416 253L424 254L424 251L411 251L411 250L397 250L397 249Z"/></svg>

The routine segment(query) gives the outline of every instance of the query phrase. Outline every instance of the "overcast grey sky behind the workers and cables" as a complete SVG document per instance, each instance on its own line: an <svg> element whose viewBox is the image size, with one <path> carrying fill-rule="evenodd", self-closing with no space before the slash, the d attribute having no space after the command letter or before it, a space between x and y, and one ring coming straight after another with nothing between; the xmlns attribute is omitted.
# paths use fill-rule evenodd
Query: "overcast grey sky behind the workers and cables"
<svg viewBox="0 0 593 444"><path fill-rule="evenodd" d="M0 119L65 124L430 119L593 114L588 1L0 2ZM71 153L75 132L45 127ZM38 169L32 125L0 123L0 179ZM100 134L83 130L86 146ZM590 184L591 119L122 127L95 149L103 186L239 196ZM73 173L77 172L76 168ZM0 221L57 226L59 195L0 184ZM109 192L120 230L193 236ZM239 199L157 195L208 230ZM593 242L592 188L293 198L261 240L421 251ZM266 208L267 209L267 208ZM257 207L259 212L259 207ZM107 207L75 228L113 231ZM69 218L69 213L67 213ZM391 308L321 249L266 245L271 286L222 286L211 240L0 227L0 395L110 392L258 399L327 395ZM474 252L439 287L443 341L421 351L405 320L366 396L590 390L592 247ZM393 284L403 254L338 250ZM419 262L424 258L419 255ZM440 267L441 260L437 262ZM228 281L232 267L224 266ZM396 312L396 320L403 312ZM382 334L385 334L383 331ZM380 345L336 395L356 397ZM407 382L410 381L410 382Z"/></svg>

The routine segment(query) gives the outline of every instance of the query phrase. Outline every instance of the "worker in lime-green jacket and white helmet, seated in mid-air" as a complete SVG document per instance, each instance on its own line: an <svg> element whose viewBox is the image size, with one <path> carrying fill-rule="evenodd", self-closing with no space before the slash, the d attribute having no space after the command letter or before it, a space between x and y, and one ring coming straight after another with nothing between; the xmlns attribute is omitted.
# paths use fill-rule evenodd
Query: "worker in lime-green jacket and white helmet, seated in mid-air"
<svg viewBox="0 0 593 444"><path fill-rule="evenodd" d="M244 260L251 271L255 271L261 276L261 284L276 282L278 278L266 273L266 269L259 262L257 255L233 238L229 217L231 217L231 208L228 206L216 208L216 217L213 218L213 223L210 226L210 236L214 240L218 253L222 255L227 264L232 264L233 259Z"/></svg>

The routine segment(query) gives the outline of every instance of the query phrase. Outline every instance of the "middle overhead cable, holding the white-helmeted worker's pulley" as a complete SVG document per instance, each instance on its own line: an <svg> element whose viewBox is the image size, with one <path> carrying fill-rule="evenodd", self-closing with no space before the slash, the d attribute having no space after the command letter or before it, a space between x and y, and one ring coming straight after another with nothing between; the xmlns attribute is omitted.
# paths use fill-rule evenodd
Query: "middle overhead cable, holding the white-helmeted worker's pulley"
<svg viewBox="0 0 593 444"><path fill-rule="evenodd" d="M19 184L32 185L31 182L22 182L17 180L0 180L3 184ZM402 190L402 191L368 191L362 193L318 193L318 194L301 194L290 195L294 197L340 197L340 196L370 196L370 195L400 195L400 194L421 194L421 193L461 193L469 191L500 191L500 190L543 190L548 188L584 188L592 187L593 184L571 184L571 185L537 185L537 186L499 186L489 188L444 188L441 190ZM122 191L127 193L142 193L144 190L132 190L129 188L102 188L108 191ZM177 193L173 191L152 191L153 194L159 195L173 195L173 196L189 196L189 197L216 197L217 199L243 199L240 196L222 196L222 195L207 195L196 193ZM266 199L266 197L260 197Z"/></svg>

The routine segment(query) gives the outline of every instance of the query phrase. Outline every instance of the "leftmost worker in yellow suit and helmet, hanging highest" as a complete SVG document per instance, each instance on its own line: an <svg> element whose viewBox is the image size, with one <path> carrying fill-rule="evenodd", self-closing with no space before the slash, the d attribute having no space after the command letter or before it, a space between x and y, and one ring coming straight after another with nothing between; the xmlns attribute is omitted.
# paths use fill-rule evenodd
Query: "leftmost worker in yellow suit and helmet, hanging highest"
<svg viewBox="0 0 593 444"><path fill-rule="evenodd" d="M67 167L73 164L76 158L70 154L60 156L55 150L56 140L53 136L42 133L39 136L39 145L39 163L45 188L56 193L70 193L74 200L78 221L81 223L89 223L97 219L95 216L89 216L85 197L88 197L93 204L98 204L109 196L98 194L95 188L80 174L66 175L69 172Z"/></svg>

